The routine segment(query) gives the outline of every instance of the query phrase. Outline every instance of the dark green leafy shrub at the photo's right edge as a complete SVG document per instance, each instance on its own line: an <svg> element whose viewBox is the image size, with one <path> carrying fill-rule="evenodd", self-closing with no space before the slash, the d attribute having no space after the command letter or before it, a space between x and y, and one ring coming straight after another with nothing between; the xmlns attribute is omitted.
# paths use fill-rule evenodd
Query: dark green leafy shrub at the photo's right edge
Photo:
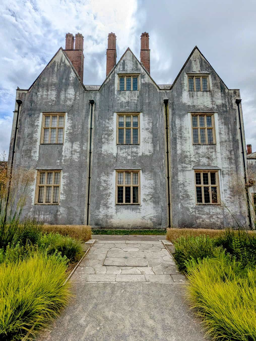
<svg viewBox="0 0 256 341"><path fill-rule="evenodd" d="M216 239L216 245L222 246L245 266L256 266L256 235L244 230L227 229Z"/></svg>

